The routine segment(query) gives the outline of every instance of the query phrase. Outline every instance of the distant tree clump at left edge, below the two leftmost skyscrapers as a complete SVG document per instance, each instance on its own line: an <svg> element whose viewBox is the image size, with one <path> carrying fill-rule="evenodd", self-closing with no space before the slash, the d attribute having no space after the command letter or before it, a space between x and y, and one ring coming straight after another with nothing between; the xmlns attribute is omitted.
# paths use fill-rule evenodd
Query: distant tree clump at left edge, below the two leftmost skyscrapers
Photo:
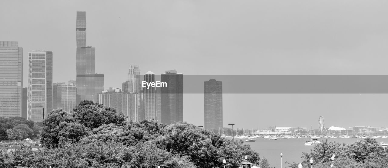
<svg viewBox="0 0 388 168"><path fill-rule="evenodd" d="M22 117L0 117L0 139L36 139L41 127Z"/></svg>

